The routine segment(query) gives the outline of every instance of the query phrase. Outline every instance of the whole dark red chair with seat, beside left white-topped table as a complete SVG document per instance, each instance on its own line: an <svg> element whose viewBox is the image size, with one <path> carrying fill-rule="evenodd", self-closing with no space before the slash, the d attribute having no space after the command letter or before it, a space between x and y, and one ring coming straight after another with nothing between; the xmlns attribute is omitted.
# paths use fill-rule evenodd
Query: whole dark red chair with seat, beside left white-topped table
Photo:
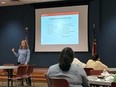
<svg viewBox="0 0 116 87"><path fill-rule="evenodd" d="M18 87L17 81L25 79L26 72L27 72L27 65L19 65L17 68L16 75L13 76L12 78L9 78L9 80L16 81Z"/></svg>

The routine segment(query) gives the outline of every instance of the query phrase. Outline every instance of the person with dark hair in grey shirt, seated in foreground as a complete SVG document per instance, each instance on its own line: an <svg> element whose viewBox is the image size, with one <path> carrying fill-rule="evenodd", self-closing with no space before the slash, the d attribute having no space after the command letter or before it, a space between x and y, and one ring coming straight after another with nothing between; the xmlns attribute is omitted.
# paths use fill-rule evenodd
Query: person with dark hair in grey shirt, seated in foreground
<svg viewBox="0 0 116 87"><path fill-rule="evenodd" d="M59 57L59 63L49 67L48 78L64 78L70 87L89 87L87 75L78 64L73 64L74 52L70 47L65 47Z"/></svg>

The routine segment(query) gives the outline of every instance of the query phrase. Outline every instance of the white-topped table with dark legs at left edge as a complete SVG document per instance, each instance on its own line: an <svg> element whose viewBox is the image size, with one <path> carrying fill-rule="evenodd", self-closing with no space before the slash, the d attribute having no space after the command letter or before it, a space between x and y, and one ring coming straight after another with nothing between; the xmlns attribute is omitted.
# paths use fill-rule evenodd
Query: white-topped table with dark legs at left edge
<svg viewBox="0 0 116 87"><path fill-rule="evenodd" d="M17 69L18 66L0 66L0 69L5 69L8 72L8 87L10 87L10 80L13 76L13 69ZM13 87L13 81L11 81L11 87Z"/></svg>

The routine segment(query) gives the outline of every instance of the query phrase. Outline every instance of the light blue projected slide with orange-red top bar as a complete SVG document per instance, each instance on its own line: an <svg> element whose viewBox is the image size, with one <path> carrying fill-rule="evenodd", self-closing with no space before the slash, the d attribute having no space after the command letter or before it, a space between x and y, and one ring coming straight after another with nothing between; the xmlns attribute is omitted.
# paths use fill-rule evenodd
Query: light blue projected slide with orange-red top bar
<svg viewBox="0 0 116 87"><path fill-rule="evenodd" d="M41 45L79 44L79 12L41 15Z"/></svg>

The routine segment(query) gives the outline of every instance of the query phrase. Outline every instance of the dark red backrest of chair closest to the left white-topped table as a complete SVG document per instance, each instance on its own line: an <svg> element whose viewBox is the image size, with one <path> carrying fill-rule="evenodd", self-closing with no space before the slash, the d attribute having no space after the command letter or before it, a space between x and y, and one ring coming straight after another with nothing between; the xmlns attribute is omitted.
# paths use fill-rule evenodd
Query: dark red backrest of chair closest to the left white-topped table
<svg viewBox="0 0 116 87"><path fill-rule="evenodd" d="M27 72L27 65L19 65L17 68L16 76L24 76Z"/></svg>

